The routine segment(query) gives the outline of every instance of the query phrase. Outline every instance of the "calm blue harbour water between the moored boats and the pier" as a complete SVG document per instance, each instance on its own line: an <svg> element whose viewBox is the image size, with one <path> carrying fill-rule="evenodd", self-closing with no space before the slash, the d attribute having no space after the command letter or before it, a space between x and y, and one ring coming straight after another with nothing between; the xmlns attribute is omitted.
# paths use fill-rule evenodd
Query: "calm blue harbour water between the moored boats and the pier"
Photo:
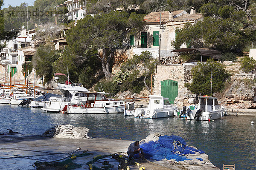
<svg viewBox="0 0 256 170"><path fill-rule="evenodd" d="M204 150L217 167L236 164L236 170L256 170L256 117L225 116L208 121L179 118L134 119L123 114L66 115L41 109L0 105L0 133L12 128L21 134L41 135L57 124L90 129L92 137L141 140L151 133L182 136L188 145ZM0 136L1 137L1 136Z"/></svg>

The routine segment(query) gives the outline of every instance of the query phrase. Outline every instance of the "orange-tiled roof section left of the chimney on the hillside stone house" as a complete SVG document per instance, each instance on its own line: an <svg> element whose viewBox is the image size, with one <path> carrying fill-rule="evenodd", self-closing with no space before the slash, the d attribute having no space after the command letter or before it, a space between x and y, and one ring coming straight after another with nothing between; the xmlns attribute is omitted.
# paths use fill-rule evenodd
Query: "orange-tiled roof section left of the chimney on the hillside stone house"
<svg viewBox="0 0 256 170"><path fill-rule="evenodd" d="M180 11L173 11L173 16L184 12L183 10ZM144 21L146 23L158 23L160 22L160 12L151 12L150 14L144 17ZM166 23L169 20L169 11L161 11L161 22Z"/></svg>

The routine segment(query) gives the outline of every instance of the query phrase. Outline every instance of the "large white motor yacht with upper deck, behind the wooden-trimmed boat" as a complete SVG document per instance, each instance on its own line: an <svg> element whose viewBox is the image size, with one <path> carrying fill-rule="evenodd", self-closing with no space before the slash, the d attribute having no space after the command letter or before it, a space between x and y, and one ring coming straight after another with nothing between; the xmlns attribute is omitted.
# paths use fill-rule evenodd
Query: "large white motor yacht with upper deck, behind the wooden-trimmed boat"
<svg viewBox="0 0 256 170"><path fill-rule="evenodd" d="M87 96L83 96L81 92L87 92L87 88L79 86L71 86L58 84L58 90L64 94L61 97L50 97L49 101L44 108L41 108L44 111L50 112L66 112L67 105L80 105L86 102Z"/></svg>

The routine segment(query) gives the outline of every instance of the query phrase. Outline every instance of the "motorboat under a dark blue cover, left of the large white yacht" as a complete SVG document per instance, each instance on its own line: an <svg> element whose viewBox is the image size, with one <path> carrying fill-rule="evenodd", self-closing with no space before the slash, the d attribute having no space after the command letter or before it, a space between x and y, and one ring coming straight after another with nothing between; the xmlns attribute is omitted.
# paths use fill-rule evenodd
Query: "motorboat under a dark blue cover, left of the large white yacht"
<svg viewBox="0 0 256 170"><path fill-rule="evenodd" d="M43 108L44 106L47 105L47 102L49 101L50 98L53 100L53 97L58 98L58 97L61 97L61 95L47 93L31 100L28 106L29 108Z"/></svg>

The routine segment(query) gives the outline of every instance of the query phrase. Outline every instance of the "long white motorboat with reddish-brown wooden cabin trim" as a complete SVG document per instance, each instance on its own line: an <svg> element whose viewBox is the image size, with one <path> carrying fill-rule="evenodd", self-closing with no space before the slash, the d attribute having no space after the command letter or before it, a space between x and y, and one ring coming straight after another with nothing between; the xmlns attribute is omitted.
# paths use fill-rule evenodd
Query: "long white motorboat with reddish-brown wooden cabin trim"
<svg viewBox="0 0 256 170"><path fill-rule="evenodd" d="M108 99L105 92L81 92L86 96L86 102L80 105L68 105L67 113L96 114L96 113L123 113L125 101ZM133 102L134 104L134 102ZM132 105L132 102L127 103Z"/></svg>

